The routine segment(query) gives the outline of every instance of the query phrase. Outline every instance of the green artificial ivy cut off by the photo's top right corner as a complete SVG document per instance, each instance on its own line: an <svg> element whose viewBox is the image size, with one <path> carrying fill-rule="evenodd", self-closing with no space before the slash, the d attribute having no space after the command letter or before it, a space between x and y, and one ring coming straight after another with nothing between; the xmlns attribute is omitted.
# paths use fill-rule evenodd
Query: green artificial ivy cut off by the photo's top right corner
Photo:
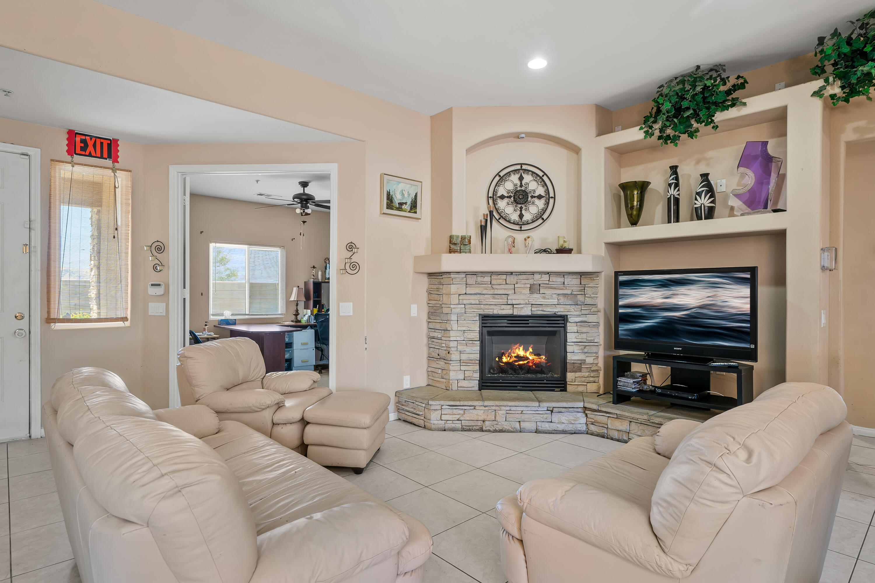
<svg viewBox="0 0 875 583"><path fill-rule="evenodd" d="M831 89L830 101L834 106L842 101L850 103L854 97L863 96L872 101L869 92L875 87L875 10L869 10L852 25L847 35L838 29L829 37L817 38L815 57L817 65L811 67L812 75L823 77L823 85L817 87L812 97L823 98ZM827 72L827 67L831 71Z"/></svg>

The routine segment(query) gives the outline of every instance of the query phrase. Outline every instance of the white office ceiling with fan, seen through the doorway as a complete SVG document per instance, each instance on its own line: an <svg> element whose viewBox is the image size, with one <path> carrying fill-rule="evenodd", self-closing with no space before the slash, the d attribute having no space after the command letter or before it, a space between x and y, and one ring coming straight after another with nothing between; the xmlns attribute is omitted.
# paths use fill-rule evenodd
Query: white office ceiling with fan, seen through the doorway
<svg viewBox="0 0 875 583"><path fill-rule="evenodd" d="M259 180L260 182L255 182ZM307 192L317 200L331 198L331 174L328 172L291 172L289 174L196 174L189 178L189 191L207 197L232 198L248 203L284 205L291 195L301 191L299 180L309 180ZM262 196L257 193L262 193ZM284 200L283 200L284 199ZM293 208L293 207L290 207ZM317 206L314 211L328 212ZM272 212L264 209L263 212ZM294 211L292 211L294 212Z"/></svg>

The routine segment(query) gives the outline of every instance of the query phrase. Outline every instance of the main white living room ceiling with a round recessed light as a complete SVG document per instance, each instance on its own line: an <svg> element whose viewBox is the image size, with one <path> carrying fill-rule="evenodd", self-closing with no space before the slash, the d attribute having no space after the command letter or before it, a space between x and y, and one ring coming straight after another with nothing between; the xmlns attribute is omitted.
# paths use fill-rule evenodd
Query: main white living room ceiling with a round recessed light
<svg viewBox="0 0 875 583"><path fill-rule="evenodd" d="M871 0L102 0L366 94L452 106L624 108L697 64L805 54ZM547 59L528 69L534 57ZM813 79L813 78L812 78Z"/></svg>

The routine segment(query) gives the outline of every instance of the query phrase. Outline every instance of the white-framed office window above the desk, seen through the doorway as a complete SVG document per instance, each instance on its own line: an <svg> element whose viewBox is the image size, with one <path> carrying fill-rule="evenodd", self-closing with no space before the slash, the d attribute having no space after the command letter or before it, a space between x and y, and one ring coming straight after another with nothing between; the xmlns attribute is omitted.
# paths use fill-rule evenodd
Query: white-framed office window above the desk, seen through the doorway
<svg viewBox="0 0 875 583"><path fill-rule="evenodd" d="M210 243L210 317L285 315L285 249Z"/></svg>

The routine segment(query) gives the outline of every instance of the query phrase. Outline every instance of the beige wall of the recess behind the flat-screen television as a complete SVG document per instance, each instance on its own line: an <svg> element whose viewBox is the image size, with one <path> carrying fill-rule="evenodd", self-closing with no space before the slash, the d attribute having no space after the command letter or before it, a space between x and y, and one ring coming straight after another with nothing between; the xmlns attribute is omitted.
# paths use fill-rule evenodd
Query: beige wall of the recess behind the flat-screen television
<svg viewBox="0 0 875 583"><path fill-rule="evenodd" d="M758 360L753 367L753 395L785 381L787 326L786 240L783 235L707 239L620 247L623 269L692 267L760 267ZM613 298L607 302L613 314ZM711 375L711 390L735 396L732 376ZM662 378L657 378L661 382Z"/></svg>

